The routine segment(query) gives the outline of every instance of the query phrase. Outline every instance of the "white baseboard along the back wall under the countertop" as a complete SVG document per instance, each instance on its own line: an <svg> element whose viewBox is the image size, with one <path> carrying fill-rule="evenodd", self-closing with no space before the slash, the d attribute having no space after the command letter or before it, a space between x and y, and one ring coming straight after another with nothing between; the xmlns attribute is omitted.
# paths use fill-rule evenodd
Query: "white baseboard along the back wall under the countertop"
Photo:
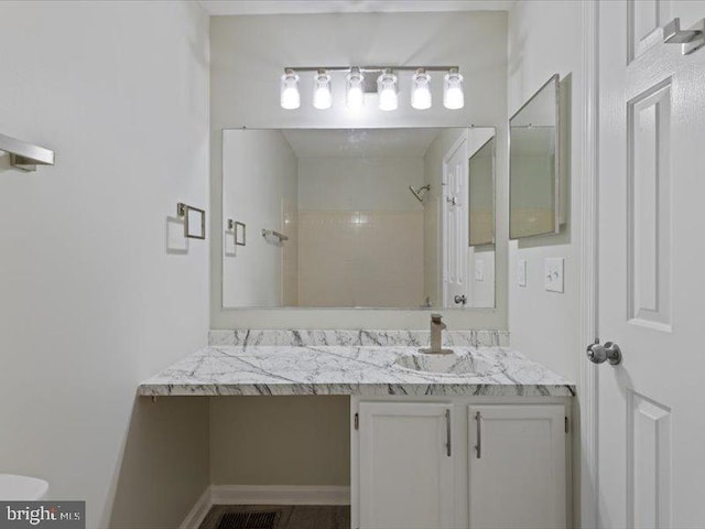
<svg viewBox="0 0 705 529"><path fill-rule="evenodd" d="M213 505L350 505L350 487L212 485Z"/></svg>

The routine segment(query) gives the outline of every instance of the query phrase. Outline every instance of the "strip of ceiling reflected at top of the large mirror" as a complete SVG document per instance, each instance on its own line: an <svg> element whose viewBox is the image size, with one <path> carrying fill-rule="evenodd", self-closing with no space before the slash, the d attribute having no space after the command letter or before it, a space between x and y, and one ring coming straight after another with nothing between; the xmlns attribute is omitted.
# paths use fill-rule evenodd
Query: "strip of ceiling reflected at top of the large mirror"
<svg viewBox="0 0 705 529"><path fill-rule="evenodd" d="M286 129L297 158L422 158L445 129Z"/></svg>

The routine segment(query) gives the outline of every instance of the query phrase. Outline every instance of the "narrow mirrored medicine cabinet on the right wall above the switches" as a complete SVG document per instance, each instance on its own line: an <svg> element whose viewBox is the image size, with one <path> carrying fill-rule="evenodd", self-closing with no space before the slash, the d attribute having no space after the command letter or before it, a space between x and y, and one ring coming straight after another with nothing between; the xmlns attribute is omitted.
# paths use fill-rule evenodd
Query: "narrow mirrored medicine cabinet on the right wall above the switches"
<svg viewBox="0 0 705 529"><path fill-rule="evenodd" d="M560 90L554 75L509 121L509 238L561 229Z"/></svg>

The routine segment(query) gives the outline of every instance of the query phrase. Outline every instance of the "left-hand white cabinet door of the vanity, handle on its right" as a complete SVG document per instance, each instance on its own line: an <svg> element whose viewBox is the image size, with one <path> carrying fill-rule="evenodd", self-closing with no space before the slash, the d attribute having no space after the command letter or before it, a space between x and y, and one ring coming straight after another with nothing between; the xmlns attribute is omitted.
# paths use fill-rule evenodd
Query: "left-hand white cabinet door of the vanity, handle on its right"
<svg viewBox="0 0 705 529"><path fill-rule="evenodd" d="M360 402L360 529L452 529L452 407Z"/></svg>

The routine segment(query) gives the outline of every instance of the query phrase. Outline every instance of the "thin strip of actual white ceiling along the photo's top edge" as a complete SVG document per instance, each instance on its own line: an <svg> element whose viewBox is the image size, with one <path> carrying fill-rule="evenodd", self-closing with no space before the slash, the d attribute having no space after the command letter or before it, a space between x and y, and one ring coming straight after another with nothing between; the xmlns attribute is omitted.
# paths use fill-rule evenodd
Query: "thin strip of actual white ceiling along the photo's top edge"
<svg viewBox="0 0 705 529"><path fill-rule="evenodd" d="M513 0L199 0L210 15L508 11Z"/></svg>

